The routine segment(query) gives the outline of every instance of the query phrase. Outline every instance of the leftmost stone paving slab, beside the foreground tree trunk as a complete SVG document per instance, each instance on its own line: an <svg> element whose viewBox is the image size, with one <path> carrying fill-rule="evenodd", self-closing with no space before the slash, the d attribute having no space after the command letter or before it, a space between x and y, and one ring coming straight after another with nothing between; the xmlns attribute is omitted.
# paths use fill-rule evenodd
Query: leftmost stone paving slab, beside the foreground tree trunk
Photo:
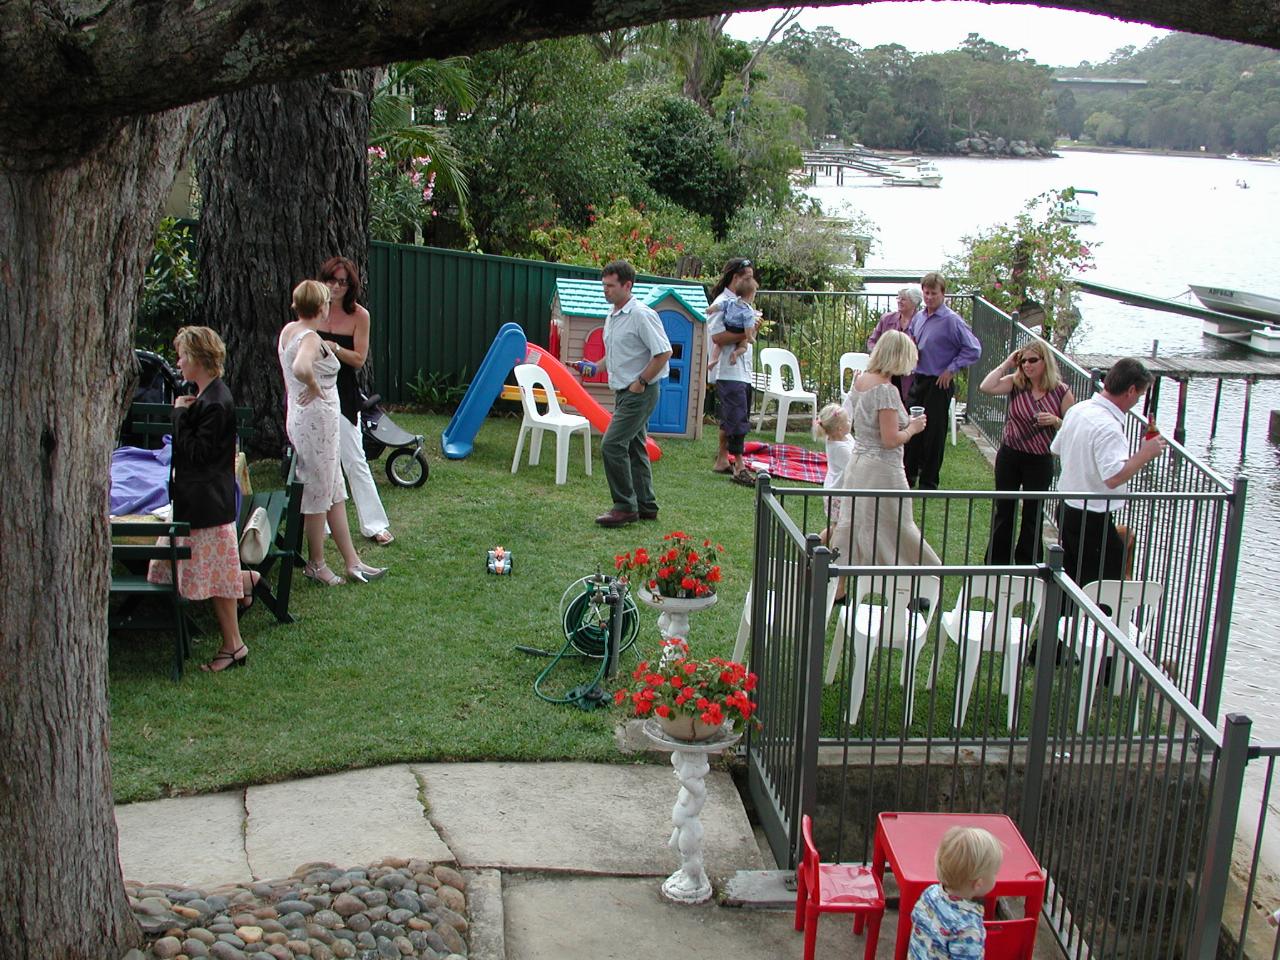
<svg viewBox="0 0 1280 960"><path fill-rule="evenodd" d="M124 804L115 826L125 879L197 887L253 879L239 790Z"/></svg>

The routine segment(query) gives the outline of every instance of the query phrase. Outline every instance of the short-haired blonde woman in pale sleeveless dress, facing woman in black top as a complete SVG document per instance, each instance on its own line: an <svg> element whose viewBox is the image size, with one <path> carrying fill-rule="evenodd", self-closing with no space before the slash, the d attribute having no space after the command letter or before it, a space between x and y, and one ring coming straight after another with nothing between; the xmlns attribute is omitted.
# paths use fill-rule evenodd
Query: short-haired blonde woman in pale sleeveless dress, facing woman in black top
<svg viewBox="0 0 1280 960"><path fill-rule="evenodd" d="M325 522L342 554L347 576L362 584L376 580L385 567L370 567L360 559L347 526L347 486L342 481L338 453L338 379L340 362L325 346L320 330L329 316L329 288L319 280L303 280L293 288L297 320L280 330L276 352L288 394L285 430L297 457L302 481L302 529L307 536L303 573L317 584L347 582L324 559Z"/></svg>

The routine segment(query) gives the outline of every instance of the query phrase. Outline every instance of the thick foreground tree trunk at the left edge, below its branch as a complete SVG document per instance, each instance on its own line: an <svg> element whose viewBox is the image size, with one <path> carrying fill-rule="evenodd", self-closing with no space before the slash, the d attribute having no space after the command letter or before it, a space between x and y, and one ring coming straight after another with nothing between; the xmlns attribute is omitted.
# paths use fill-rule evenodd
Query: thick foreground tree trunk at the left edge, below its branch
<svg viewBox="0 0 1280 960"><path fill-rule="evenodd" d="M201 111L0 173L0 957L101 960L140 938L105 749L106 493L129 319Z"/></svg>

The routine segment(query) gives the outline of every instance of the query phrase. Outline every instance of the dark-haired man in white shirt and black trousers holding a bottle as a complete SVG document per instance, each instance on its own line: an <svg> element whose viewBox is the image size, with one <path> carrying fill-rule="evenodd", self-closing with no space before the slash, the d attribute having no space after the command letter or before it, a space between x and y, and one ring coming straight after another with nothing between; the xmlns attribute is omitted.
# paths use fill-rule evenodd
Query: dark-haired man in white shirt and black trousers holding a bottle
<svg viewBox="0 0 1280 960"><path fill-rule="evenodd" d="M1108 493L1125 493L1129 480L1169 445L1158 434L1143 440L1133 454L1124 434L1125 413L1142 398L1152 376L1140 361L1117 360L1102 383L1102 393L1076 403L1062 417L1050 444L1062 463L1057 489L1098 494L1062 500L1059 538L1065 572L1078 584L1124 577L1125 543L1112 512L1124 506Z"/></svg>

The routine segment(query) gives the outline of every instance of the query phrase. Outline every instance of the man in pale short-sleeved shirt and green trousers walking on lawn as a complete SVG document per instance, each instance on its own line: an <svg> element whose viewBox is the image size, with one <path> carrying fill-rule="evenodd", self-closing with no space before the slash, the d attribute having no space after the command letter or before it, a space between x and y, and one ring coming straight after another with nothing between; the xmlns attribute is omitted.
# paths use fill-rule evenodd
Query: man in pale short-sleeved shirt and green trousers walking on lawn
<svg viewBox="0 0 1280 960"><path fill-rule="evenodd" d="M614 392L613 417L600 443L613 506L595 518L609 527L658 518L645 428L658 406L658 381L668 372L671 340L662 319L631 296L635 279L635 268L626 260L605 264L600 284L613 311L604 321L604 357L598 364L575 364L589 375L602 367L608 370Z"/></svg>

